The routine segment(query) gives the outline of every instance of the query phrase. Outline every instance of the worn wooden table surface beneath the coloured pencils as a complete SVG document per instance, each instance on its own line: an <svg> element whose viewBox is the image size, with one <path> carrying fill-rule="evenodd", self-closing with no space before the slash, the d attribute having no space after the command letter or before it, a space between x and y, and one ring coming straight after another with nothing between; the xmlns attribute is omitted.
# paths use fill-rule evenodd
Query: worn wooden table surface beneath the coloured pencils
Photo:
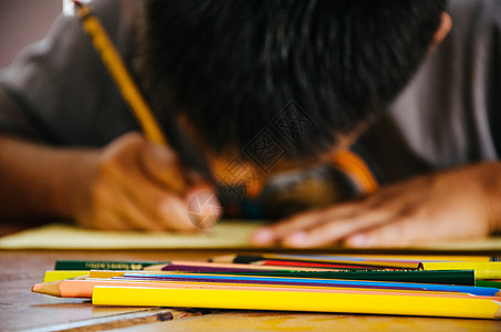
<svg viewBox="0 0 501 332"><path fill-rule="evenodd" d="M93 307L32 293L56 259L207 260L217 250L0 251L0 331L501 331L501 321L264 311Z"/></svg>

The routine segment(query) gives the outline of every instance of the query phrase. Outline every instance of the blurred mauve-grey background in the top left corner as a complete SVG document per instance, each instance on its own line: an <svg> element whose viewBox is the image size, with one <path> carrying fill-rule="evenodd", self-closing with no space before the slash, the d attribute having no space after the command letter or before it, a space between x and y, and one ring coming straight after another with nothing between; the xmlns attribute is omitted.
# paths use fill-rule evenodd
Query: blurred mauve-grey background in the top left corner
<svg viewBox="0 0 501 332"><path fill-rule="evenodd" d="M62 11L62 0L0 0L0 69L41 40Z"/></svg>

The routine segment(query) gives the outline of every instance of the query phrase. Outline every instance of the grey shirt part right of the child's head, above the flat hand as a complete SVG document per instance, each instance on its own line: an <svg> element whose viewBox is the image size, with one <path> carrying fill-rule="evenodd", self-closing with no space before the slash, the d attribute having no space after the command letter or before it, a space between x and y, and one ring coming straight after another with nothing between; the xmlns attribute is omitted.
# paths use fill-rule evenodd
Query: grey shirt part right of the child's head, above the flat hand
<svg viewBox="0 0 501 332"><path fill-rule="evenodd" d="M499 157L501 1L453 0L448 11L450 34L364 139L388 180Z"/></svg>

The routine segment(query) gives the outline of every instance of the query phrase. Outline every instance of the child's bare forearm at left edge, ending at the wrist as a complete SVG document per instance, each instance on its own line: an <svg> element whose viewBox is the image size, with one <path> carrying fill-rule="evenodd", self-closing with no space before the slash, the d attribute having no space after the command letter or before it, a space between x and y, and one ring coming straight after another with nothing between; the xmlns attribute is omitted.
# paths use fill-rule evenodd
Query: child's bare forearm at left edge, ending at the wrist
<svg viewBox="0 0 501 332"><path fill-rule="evenodd" d="M72 217L73 197L96 156L0 135L0 217Z"/></svg>

